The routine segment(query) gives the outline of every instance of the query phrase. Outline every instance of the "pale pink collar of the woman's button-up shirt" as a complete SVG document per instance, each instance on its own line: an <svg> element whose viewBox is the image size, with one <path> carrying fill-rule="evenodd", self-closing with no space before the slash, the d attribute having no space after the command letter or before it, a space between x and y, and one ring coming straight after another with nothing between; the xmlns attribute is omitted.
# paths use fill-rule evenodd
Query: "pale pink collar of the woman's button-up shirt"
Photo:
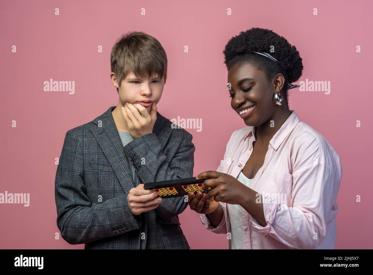
<svg viewBox="0 0 373 275"><path fill-rule="evenodd" d="M275 150L278 149L285 138L291 133L291 131L293 131L298 122L300 122L300 119L297 116L297 113L295 113L295 110L290 111L291 115L288 117L288 119L286 119L286 121L281 125L280 129L275 133L275 135L273 135L272 139L269 141L269 143ZM250 136L251 133L251 136L255 141L255 131L256 126L248 127L247 133L245 135L245 140Z"/></svg>

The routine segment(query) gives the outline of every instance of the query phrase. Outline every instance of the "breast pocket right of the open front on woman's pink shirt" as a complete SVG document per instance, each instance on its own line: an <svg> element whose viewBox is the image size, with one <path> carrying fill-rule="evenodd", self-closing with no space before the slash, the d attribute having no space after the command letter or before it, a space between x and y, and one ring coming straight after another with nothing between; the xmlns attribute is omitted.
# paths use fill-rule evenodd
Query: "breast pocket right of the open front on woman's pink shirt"
<svg viewBox="0 0 373 275"><path fill-rule="evenodd" d="M265 203L286 204L291 207L292 174L268 172L262 197Z"/></svg>

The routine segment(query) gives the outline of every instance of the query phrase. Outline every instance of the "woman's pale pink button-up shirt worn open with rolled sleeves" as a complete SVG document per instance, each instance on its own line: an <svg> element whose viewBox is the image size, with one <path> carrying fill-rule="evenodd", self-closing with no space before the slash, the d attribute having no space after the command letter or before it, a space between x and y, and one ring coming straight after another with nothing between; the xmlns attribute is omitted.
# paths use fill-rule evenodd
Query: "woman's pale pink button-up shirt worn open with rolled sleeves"
<svg viewBox="0 0 373 275"><path fill-rule="evenodd" d="M267 225L260 226L242 208L244 249L335 249L341 162L325 138L291 112L270 140L264 164L249 185L263 196ZM247 126L233 132L218 172L238 178L253 153L255 130ZM226 203L219 204L224 217L216 228L206 215L201 214L201 220L207 230L229 239Z"/></svg>

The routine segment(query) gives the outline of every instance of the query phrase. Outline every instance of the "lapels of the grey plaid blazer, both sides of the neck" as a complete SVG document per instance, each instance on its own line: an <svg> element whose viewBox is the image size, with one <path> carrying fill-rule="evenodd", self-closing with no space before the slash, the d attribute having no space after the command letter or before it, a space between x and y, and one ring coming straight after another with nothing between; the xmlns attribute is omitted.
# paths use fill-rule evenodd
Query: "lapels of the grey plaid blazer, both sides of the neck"
<svg viewBox="0 0 373 275"><path fill-rule="evenodd" d="M128 193L132 187L136 187L138 180L136 178L136 183L134 183L132 172L125 157L126 152L120 140L112 114L115 107L110 107L105 113L92 120L95 126L91 127L91 131L112 166L120 185ZM162 147L165 146L172 131L171 127L165 127L168 121L168 119L157 112L157 120L154 123L153 133L159 137Z"/></svg>

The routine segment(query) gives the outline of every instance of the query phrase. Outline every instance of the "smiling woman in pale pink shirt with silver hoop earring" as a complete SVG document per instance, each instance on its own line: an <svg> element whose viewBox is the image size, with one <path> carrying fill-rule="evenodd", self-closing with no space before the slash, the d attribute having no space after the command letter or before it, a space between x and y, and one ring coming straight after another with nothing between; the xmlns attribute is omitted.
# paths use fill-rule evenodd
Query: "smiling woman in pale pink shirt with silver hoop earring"
<svg viewBox="0 0 373 275"><path fill-rule="evenodd" d="M208 178L205 192L213 189L189 193L191 209L208 230L229 234L230 249L334 248L342 166L289 110L287 91L299 87L289 83L303 70L299 52L272 30L251 28L223 53L231 107L247 126L233 132L217 171L196 177Z"/></svg>

